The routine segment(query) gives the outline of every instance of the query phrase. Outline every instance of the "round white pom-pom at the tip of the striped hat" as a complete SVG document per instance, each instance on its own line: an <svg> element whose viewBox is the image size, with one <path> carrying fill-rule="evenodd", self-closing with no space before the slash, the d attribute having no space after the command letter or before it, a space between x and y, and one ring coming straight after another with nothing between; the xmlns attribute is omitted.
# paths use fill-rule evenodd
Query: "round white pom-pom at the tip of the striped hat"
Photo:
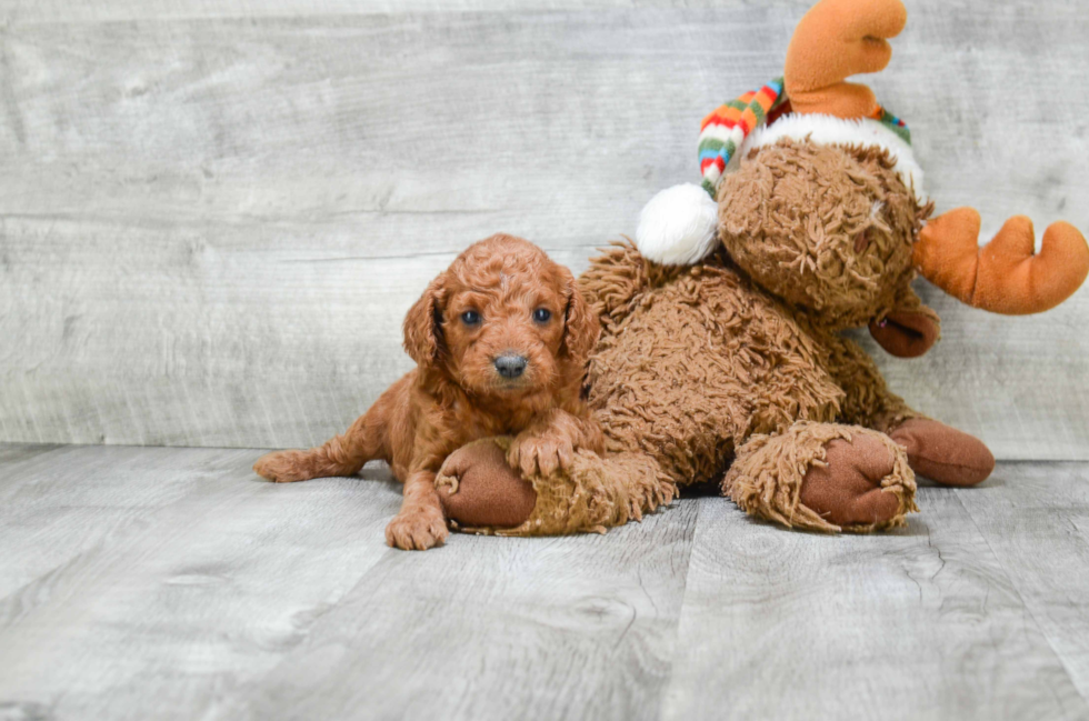
<svg viewBox="0 0 1089 721"><path fill-rule="evenodd" d="M662 190L639 214L636 247L642 257L667 266L688 266L718 244L718 203L699 186Z"/></svg>

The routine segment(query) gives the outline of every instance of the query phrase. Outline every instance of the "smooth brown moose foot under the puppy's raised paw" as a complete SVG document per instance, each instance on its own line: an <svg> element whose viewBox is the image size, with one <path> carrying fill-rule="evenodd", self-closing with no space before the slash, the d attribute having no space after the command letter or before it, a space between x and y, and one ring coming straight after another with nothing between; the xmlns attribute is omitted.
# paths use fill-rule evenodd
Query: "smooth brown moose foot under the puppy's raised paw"
<svg viewBox="0 0 1089 721"><path fill-rule="evenodd" d="M537 491L507 463L503 449L487 440L451 453L434 479L447 518L464 528L516 528L537 505Z"/></svg>

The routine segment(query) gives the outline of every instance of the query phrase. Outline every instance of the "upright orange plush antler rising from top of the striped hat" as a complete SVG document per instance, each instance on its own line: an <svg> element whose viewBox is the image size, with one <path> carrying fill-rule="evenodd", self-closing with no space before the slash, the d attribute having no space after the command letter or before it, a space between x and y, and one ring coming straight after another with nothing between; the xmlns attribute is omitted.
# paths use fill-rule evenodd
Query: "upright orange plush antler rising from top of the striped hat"
<svg viewBox="0 0 1089 721"><path fill-rule="evenodd" d="M878 110L873 91L843 82L889 64L887 42L903 30L908 11L900 0L821 0L798 23L783 73L795 112L869 118Z"/></svg>

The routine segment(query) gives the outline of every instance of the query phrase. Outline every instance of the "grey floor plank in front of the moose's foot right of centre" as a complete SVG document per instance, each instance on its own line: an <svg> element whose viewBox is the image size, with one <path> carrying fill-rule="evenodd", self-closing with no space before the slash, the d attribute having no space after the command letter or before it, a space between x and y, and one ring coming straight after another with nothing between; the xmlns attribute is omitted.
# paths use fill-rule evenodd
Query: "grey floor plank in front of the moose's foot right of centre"
<svg viewBox="0 0 1089 721"><path fill-rule="evenodd" d="M706 501L662 718L1089 717L1010 559L961 505L977 492L921 489L907 529L862 537L785 533ZM1052 527L1036 528L1042 552Z"/></svg>

